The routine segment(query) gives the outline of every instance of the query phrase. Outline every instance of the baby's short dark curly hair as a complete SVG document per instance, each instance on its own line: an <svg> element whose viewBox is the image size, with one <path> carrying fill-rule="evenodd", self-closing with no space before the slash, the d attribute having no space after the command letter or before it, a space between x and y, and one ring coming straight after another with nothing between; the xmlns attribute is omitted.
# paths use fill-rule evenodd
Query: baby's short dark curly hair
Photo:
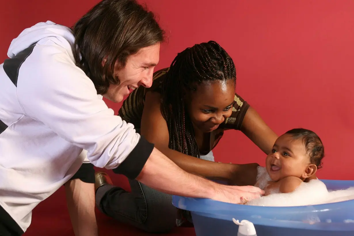
<svg viewBox="0 0 354 236"><path fill-rule="evenodd" d="M320 137L315 132L308 129L291 129L286 134L290 134L294 139L302 139L305 144L306 152L310 156L310 162L322 168L322 159L325 156L325 150Z"/></svg>

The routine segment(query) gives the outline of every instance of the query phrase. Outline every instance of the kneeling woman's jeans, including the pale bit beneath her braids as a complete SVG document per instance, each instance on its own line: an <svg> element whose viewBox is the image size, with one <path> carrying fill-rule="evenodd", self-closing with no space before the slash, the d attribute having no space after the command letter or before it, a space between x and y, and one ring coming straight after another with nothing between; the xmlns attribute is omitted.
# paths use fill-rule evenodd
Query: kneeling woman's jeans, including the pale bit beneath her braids
<svg viewBox="0 0 354 236"><path fill-rule="evenodd" d="M214 161L212 152L201 159ZM105 184L97 189L96 205L104 214L147 232L168 232L176 226L172 195L129 180L131 192Z"/></svg>

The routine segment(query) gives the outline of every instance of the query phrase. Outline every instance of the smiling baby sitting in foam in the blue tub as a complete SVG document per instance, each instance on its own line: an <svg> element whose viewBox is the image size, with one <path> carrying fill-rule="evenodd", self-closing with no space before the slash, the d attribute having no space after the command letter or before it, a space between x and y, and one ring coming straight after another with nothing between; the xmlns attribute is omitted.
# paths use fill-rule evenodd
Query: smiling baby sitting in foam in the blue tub
<svg viewBox="0 0 354 236"><path fill-rule="evenodd" d="M265 159L266 172L259 168L255 186L263 189L265 196L292 192L315 178L323 157L324 147L317 134L303 128L291 129L275 141Z"/></svg>

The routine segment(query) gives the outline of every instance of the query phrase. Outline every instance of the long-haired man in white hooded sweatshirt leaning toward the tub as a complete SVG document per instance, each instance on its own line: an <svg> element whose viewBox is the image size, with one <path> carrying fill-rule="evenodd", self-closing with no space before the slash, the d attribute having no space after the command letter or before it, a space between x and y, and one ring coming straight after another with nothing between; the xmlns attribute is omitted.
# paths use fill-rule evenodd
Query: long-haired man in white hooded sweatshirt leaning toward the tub
<svg viewBox="0 0 354 236"><path fill-rule="evenodd" d="M135 0L103 0L73 30L47 21L11 42L0 67L1 235L22 235L33 208L64 184L75 234L97 235L85 218L93 184L74 176L86 157L169 194L234 203L259 196L184 172L103 102L151 86L163 36Z"/></svg>

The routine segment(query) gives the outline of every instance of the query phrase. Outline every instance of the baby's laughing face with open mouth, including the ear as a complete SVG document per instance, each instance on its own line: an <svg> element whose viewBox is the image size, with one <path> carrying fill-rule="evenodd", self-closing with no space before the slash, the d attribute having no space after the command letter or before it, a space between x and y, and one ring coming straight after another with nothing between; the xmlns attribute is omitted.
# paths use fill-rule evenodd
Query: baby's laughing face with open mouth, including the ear
<svg viewBox="0 0 354 236"><path fill-rule="evenodd" d="M267 156L265 163L273 181L288 176L304 180L302 175L310 164L310 158L301 139L283 134L275 141L272 153Z"/></svg>

